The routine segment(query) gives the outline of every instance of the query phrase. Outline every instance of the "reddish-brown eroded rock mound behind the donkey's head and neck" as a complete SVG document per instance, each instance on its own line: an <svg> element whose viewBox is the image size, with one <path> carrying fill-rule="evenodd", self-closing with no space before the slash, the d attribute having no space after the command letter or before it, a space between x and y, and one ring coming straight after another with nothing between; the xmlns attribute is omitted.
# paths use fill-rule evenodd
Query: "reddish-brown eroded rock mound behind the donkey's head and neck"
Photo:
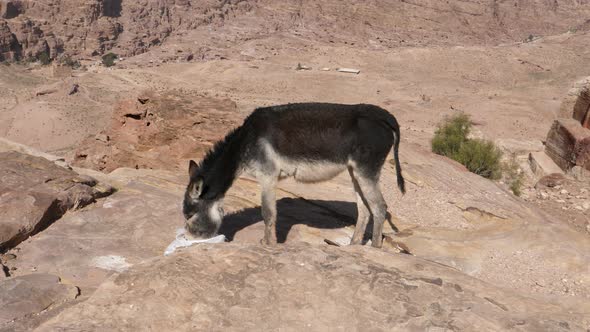
<svg viewBox="0 0 590 332"><path fill-rule="evenodd" d="M110 128L83 142L73 164L107 172L118 167L185 172L187 159L202 156L242 117L229 99L142 93L115 106Z"/></svg>

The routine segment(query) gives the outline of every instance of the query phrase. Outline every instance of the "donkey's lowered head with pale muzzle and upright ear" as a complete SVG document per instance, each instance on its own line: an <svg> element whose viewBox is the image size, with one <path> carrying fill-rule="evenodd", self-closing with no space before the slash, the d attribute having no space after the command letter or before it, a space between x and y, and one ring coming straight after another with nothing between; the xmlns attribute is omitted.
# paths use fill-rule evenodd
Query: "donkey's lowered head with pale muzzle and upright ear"
<svg viewBox="0 0 590 332"><path fill-rule="evenodd" d="M216 235L223 220L221 199L206 199L206 180L199 174L194 161L189 163L190 180L184 193L182 212L186 219L185 228L194 236L210 238Z"/></svg>

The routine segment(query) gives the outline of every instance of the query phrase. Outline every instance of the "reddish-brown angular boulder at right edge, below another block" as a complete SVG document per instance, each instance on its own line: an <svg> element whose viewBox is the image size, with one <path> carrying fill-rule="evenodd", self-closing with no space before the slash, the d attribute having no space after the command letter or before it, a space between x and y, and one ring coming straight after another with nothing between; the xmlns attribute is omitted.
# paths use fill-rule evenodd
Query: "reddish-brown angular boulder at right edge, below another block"
<svg viewBox="0 0 590 332"><path fill-rule="evenodd" d="M547 134L546 153L563 170L590 169L590 129L575 119L557 119Z"/></svg>

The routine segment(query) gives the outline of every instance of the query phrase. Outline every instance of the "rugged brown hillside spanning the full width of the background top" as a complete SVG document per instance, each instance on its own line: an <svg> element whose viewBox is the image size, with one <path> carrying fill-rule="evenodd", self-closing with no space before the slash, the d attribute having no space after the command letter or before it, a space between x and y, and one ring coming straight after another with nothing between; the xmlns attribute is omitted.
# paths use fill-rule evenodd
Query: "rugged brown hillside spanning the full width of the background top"
<svg viewBox="0 0 590 332"><path fill-rule="evenodd" d="M589 18L590 4L578 0L2 0L0 61L130 56L197 30L198 47L283 33L386 47L493 44L585 29Z"/></svg>

